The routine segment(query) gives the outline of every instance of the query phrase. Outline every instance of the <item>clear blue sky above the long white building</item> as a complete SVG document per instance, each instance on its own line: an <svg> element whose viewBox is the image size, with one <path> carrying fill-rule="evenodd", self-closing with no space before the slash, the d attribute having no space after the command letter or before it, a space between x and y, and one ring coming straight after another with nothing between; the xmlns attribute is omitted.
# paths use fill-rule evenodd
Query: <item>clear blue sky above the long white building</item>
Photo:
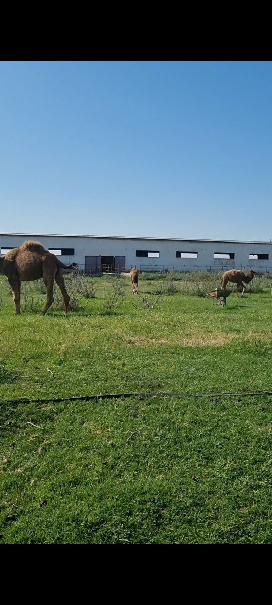
<svg viewBox="0 0 272 605"><path fill-rule="evenodd" d="M270 241L271 61L0 62L0 232Z"/></svg>

